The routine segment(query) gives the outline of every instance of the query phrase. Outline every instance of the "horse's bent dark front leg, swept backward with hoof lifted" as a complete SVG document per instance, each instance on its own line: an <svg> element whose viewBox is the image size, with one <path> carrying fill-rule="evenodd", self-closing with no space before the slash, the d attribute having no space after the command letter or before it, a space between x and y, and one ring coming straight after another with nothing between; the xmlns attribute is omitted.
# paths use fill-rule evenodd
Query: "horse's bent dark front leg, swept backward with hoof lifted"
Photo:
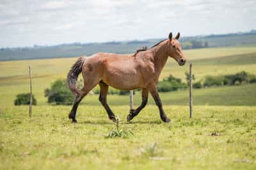
<svg viewBox="0 0 256 170"><path fill-rule="evenodd" d="M137 108L137 109L131 109L130 110L130 114L128 114L127 116L127 121L131 121L132 118L134 118L135 116L137 116L139 114L139 112L145 107L145 105L147 105L148 102L148 89L142 89L141 91L141 98L142 98L142 102L141 105Z"/></svg>

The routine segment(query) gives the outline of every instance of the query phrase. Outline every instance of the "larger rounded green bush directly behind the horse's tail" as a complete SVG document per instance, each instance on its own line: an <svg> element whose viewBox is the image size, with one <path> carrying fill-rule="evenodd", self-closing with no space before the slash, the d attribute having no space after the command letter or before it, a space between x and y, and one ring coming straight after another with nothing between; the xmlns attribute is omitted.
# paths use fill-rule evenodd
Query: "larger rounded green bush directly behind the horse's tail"
<svg viewBox="0 0 256 170"><path fill-rule="evenodd" d="M71 105L74 100L74 95L67 88L65 80L57 80L53 82L51 88L44 91L45 97L48 98L48 103L56 103L57 105Z"/></svg>

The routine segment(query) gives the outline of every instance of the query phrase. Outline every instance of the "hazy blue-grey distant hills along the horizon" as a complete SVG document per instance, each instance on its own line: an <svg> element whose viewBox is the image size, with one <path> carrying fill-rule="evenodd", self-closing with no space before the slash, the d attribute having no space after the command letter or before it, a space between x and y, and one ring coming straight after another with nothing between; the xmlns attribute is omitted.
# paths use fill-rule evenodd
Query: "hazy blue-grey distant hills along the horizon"
<svg viewBox="0 0 256 170"><path fill-rule="evenodd" d="M164 38L148 40L132 40L105 43L63 43L52 46L1 48L0 61L42 58L68 58L74 56L90 56L97 52L115 52L119 54L134 53L142 46L151 47ZM244 33L225 35L187 36L180 38L183 49L204 47L222 47L232 45L256 44L256 30Z"/></svg>

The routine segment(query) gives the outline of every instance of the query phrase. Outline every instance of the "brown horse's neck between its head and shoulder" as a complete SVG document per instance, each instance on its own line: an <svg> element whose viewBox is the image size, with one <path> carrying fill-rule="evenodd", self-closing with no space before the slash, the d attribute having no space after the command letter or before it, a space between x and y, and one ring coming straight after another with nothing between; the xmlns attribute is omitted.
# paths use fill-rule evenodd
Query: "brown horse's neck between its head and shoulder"
<svg viewBox="0 0 256 170"><path fill-rule="evenodd" d="M154 54L155 71L158 74L161 73L168 59L168 54L166 54L166 45L167 42L163 42L152 49L152 52Z"/></svg>

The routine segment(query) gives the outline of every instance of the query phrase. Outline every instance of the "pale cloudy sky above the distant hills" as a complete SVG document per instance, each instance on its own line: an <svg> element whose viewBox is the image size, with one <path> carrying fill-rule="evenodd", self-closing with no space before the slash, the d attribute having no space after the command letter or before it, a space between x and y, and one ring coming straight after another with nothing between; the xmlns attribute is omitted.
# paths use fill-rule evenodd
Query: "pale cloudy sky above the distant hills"
<svg viewBox="0 0 256 170"><path fill-rule="evenodd" d="M0 47L256 29L255 0L0 0Z"/></svg>

